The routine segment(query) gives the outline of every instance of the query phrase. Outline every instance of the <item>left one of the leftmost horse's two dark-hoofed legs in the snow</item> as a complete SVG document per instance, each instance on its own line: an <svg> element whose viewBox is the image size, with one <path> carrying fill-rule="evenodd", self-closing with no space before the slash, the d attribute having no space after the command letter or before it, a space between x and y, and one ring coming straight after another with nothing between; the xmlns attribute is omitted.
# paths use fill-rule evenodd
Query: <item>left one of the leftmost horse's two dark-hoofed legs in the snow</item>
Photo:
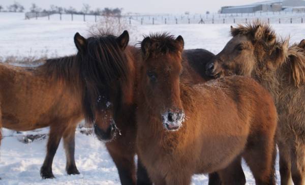
<svg viewBox="0 0 305 185"><path fill-rule="evenodd" d="M52 172L52 163L62 135L63 128L55 126L50 127L47 155L40 169L40 175L43 179L55 178Z"/></svg>

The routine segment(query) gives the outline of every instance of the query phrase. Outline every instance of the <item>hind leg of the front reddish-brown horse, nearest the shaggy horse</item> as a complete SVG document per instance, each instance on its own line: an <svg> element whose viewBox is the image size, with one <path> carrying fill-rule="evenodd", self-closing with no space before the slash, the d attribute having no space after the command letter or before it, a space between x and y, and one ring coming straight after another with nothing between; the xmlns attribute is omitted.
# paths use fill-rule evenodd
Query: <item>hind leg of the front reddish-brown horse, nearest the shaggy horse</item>
<svg viewBox="0 0 305 185"><path fill-rule="evenodd" d="M276 184L276 144L273 135L261 133L254 140L248 141L248 144L242 157L249 165L256 184Z"/></svg>

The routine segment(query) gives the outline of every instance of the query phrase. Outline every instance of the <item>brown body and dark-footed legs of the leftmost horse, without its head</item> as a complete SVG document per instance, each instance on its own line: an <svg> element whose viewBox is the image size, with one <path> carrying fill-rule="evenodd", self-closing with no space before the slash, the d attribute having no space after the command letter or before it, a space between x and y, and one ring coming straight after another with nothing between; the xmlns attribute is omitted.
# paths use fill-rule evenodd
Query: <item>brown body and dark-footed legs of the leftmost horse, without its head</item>
<svg viewBox="0 0 305 185"><path fill-rule="evenodd" d="M67 154L67 172L79 173L74 162L75 128L83 118L79 77L74 78L78 73L70 78L75 80L75 90L71 88L70 79L54 74L63 74L64 71L71 75L70 70L67 72L57 65L72 63L73 58L51 59L36 68L0 64L0 84L5 87L0 89L0 118L3 127L28 131L50 126L47 156L41 170L43 178L54 177L52 160L62 137ZM55 69L55 66L58 68ZM53 69L54 73L49 73L50 69Z"/></svg>

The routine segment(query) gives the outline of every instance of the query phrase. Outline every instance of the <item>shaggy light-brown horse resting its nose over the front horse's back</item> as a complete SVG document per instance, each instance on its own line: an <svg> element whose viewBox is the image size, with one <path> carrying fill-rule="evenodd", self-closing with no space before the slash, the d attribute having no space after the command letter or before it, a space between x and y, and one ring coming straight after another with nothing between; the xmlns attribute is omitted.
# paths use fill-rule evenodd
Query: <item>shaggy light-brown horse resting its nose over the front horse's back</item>
<svg viewBox="0 0 305 185"><path fill-rule="evenodd" d="M231 27L233 38L207 64L210 76L252 77L272 94L279 124L281 184L305 183L305 42L288 47L268 24Z"/></svg>

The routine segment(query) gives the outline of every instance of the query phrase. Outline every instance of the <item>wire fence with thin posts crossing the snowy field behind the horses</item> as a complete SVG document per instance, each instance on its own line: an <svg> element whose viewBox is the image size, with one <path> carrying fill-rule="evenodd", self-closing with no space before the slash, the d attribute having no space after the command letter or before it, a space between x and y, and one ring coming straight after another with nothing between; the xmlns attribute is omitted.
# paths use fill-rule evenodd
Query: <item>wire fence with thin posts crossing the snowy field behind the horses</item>
<svg viewBox="0 0 305 185"><path fill-rule="evenodd" d="M25 19L89 21L97 22L102 15L86 14L49 14L26 13ZM123 15L116 17L117 21L124 19L129 24L238 24L260 20L268 23L305 23L305 12L256 12L234 14L194 14L194 15Z"/></svg>

